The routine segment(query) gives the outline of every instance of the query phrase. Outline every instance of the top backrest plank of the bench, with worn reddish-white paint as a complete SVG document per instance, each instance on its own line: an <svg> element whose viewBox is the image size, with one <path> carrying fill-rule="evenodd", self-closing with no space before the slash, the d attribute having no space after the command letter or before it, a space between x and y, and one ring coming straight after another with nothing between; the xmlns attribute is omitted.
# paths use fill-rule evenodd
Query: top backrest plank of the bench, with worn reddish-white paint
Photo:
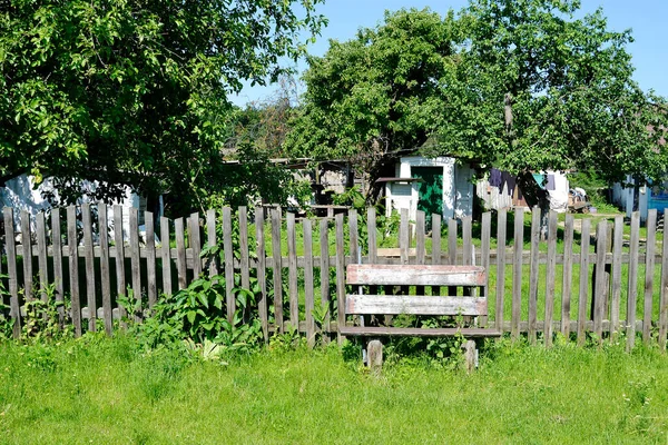
<svg viewBox="0 0 668 445"><path fill-rule="evenodd" d="M347 266L348 285L484 286L480 266L354 265Z"/></svg>

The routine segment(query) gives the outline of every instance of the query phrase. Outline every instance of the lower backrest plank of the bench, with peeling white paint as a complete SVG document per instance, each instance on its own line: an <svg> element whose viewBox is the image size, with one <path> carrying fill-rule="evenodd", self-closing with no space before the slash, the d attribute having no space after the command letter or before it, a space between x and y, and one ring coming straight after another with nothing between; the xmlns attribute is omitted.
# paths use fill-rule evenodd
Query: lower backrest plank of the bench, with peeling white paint
<svg viewBox="0 0 668 445"><path fill-rule="evenodd" d="M487 298L423 295L357 295L345 297L346 314L487 315Z"/></svg>

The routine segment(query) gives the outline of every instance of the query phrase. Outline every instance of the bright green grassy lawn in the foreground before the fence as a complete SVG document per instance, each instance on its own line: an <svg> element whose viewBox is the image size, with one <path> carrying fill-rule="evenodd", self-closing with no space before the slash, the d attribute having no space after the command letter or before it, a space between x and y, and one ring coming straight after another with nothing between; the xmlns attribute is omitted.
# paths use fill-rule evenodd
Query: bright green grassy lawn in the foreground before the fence
<svg viewBox="0 0 668 445"><path fill-rule="evenodd" d="M380 377L335 347L275 347L226 365L141 354L122 336L0 349L0 443L668 439L668 356L651 349L504 343L470 376L414 358Z"/></svg>

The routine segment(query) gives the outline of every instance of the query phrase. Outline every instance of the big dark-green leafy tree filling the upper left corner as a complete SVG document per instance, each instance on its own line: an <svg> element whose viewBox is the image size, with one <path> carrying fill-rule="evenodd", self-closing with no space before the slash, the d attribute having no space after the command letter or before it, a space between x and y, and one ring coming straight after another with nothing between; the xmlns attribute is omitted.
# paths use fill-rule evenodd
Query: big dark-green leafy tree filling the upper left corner
<svg viewBox="0 0 668 445"><path fill-rule="evenodd" d="M81 179L99 199L212 192L228 95L286 72L321 1L2 2L0 178L53 176L69 201Z"/></svg>

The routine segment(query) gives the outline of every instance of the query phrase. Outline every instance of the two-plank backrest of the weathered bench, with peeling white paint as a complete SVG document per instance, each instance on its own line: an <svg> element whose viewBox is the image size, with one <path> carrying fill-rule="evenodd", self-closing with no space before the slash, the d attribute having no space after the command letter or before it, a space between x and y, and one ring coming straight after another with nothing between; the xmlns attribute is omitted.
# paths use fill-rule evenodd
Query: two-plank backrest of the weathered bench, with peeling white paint
<svg viewBox="0 0 668 445"><path fill-rule="evenodd" d="M487 286L487 271L479 266L352 264L346 273L346 284L360 286ZM345 313L483 316L488 303L469 296L352 294L346 296Z"/></svg>

